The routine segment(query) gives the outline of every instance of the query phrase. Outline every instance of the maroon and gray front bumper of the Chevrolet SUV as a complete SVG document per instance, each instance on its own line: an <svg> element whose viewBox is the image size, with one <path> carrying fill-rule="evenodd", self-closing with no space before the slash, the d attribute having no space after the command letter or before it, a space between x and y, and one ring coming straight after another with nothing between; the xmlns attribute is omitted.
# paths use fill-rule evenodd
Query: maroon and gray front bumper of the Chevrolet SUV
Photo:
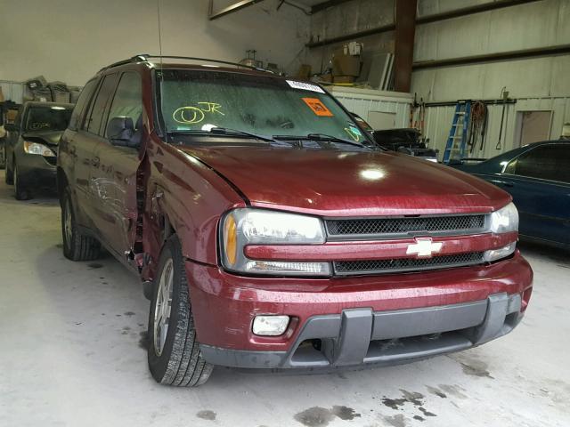
<svg viewBox="0 0 570 427"><path fill-rule="evenodd" d="M243 278L186 262L200 349L215 365L330 368L387 365L464 350L509 333L533 273L509 260L376 277ZM286 314L278 337L251 332L259 314Z"/></svg>

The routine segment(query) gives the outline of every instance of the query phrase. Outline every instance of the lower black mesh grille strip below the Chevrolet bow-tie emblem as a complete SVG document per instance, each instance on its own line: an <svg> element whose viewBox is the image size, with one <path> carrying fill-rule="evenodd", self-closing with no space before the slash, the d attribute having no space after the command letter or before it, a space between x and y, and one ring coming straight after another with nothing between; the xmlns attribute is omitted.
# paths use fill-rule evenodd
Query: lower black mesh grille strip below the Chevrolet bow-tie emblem
<svg viewBox="0 0 570 427"><path fill-rule="evenodd" d="M353 274L378 274L401 271L436 270L483 263L483 252L468 252L434 256L433 258L395 258L372 261L334 262L335 274L339 276Z"/></svg>

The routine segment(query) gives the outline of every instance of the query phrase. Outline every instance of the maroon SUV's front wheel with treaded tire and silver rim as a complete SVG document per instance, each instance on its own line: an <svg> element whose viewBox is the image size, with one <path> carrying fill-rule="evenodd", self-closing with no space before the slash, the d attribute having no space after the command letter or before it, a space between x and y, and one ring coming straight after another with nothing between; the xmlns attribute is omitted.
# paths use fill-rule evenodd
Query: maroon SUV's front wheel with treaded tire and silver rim
<svg viewBox="0 0 570 427"><path fill-rule="evenodd" d="M169 309L167 304L161 303L165 300L170 301ZM161 307L165 308L163 314ZM166 319L166 325L160 318ZM208 381L214 366L202 358L196 341L188 278L175 235L167 240L160 254L147 336L149 368L157 383L197 387Z"/></svg>

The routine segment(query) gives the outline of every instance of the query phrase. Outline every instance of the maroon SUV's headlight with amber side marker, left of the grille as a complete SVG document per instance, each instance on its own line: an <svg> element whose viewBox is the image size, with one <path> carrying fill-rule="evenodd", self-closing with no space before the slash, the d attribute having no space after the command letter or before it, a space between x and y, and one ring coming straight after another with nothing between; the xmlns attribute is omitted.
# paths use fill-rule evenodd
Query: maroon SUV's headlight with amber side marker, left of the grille
<svg viewBox="0 0 570 427"><path fill-rule="evenodd" d="M235 209L226 214L222 230L222 263L227 270L249 274L330 276L329 262L250 260L247 245L312 245L325 242L319 218L263 209Z"/></svg>

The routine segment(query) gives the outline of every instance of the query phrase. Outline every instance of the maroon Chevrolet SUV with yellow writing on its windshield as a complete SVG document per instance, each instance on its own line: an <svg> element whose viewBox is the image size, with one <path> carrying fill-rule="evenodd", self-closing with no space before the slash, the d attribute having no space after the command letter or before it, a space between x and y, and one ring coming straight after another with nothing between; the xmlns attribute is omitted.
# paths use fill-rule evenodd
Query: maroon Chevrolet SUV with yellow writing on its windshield
<svg viewBox="0 0 570 427"><path fill-rule="evenodd" d="M402 363L517 326L533 272L509 194L375 149L319 85L151 59L87 82L58 187L65 256L102 245L142 278L158 382Z"/></svg>

